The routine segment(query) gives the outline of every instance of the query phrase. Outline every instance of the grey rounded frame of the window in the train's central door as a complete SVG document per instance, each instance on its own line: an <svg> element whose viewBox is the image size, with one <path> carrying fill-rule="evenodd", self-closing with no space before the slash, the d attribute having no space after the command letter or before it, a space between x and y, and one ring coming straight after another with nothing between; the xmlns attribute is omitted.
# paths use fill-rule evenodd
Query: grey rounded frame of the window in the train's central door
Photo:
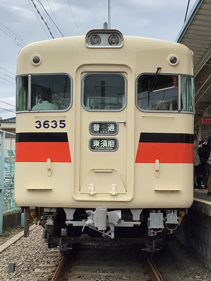
<svg viewBox="0 0 211 281"><path fill-rule="evenodd" d="M84 80L90 74L106 74L106 75L107 74L116 74L116 75L121 75L123 77L123 79L124 79L124 96L125 96L124 106L122 108L120 108L120 109L89 109L89 108L86 108L84 103L83 103L83 100L84 100ZM128 93L127 92L127 90L128 90L128 83L127 82L128 82L127 78L121 72L88 72L88 73L86 73L82 77L82 80L81 80L81 105L82 105L82 107L85 110L91 111L91 112L119 112L119 111L122 111L127 106L127 93Z"/></svg>

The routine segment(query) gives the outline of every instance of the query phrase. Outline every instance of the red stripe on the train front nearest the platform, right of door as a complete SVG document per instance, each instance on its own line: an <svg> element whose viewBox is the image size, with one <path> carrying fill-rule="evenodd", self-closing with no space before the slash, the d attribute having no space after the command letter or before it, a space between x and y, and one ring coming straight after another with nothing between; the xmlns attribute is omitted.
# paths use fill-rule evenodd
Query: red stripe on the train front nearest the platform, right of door
<svg viewBox="0 0 211 281"><path fill-rule="evenodd" d="M136 163L193 163L192 143L139 143Z"/></svg>

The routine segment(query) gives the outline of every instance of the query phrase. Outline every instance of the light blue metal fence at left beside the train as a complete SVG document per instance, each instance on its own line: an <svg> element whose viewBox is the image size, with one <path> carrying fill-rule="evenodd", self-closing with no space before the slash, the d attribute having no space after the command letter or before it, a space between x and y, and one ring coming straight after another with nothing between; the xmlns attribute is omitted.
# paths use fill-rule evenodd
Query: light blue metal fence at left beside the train
<svg viewBox="0 0 211 281"><path fill-rule="evenodd" d="M0 130L0 234L3 213L14 212L20 207L15 203L15 134Z"/></svg>

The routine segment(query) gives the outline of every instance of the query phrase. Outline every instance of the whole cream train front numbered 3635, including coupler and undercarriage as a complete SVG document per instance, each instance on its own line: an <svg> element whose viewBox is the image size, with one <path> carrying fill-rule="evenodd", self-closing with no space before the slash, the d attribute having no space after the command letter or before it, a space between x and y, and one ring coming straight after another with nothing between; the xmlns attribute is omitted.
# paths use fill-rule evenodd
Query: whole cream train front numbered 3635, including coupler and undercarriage
<svg viewBox="0 0 211 281"><path fill-rule="evenodd" d="M186 46L110 29L20 51L15 198L42 207L49 247L153 250L177 228L193 201L192 75Z"/></svg>

